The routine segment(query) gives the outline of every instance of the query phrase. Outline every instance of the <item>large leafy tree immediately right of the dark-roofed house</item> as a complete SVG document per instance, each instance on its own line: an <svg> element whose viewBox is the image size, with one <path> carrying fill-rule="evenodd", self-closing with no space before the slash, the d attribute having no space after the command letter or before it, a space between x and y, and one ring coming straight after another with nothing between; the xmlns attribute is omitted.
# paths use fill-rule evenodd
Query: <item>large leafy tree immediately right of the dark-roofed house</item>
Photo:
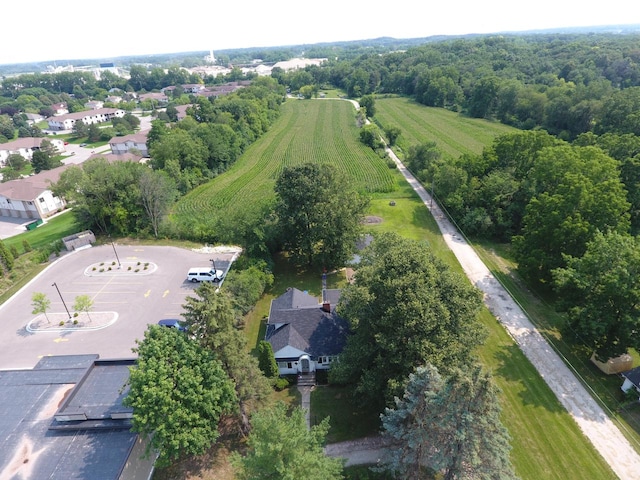
<svg viewBox="0 0 640 480"><path fill-rule="evenodd" d="M363 403L390 403L417 365L446 372L470 361L485 338L481 304L479 291L427 245L380 235L342 291L338 312L353 334L330 378L355 383Z"/></svg>

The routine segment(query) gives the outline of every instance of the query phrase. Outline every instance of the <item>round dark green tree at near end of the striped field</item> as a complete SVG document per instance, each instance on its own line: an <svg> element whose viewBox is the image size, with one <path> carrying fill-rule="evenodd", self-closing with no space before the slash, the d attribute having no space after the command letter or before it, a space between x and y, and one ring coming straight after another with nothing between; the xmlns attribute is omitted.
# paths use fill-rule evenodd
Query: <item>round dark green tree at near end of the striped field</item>
<svg viewBox="0 0 640 480"><path fill-rule="evenodd" d="M345 265L355 251L368 201L328 164L286 167L275 191L284 250L307 266Z"/></svg>

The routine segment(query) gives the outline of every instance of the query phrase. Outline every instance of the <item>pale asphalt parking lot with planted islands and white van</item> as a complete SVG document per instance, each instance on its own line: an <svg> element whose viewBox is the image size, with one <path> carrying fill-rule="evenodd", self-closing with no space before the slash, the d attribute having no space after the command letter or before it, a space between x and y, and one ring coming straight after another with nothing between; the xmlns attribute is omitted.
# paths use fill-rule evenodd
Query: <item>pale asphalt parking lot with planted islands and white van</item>
<svg viewBox="0 0 640 480"><path fill-rule="evenodd" d="M187 281L189 268L211 266L213 259L216 268L226 273L236 255L120 245L66 254L0 306L0 369L32 368L45 355L97 353L105 359L131 358L131 349L136 339L143 338L147 325L181 317L186 297L198 286ZM66 316L67 310L73 313L75 298L88 295L93 300L90 314L109 313L116 321L90 330L31 332L27 326L37 317L32 313L34 292L44 293L51 301L47 313L52 317Z"/></svg>

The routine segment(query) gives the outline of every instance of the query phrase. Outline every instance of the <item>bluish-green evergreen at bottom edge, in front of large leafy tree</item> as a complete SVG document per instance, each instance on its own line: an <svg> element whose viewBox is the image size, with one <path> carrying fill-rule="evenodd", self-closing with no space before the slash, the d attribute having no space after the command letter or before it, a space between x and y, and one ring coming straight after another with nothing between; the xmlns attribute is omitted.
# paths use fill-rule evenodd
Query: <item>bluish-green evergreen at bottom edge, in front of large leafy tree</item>
<svg viewBox="0 0 640 480"><path fill-rule="evenodd" d="M425 478L425 469L444 480L517 478L497 387L479 365L446 378L431 365L418 367L404 397L381 418L392 440L383 462L398 478Z"/></svg>

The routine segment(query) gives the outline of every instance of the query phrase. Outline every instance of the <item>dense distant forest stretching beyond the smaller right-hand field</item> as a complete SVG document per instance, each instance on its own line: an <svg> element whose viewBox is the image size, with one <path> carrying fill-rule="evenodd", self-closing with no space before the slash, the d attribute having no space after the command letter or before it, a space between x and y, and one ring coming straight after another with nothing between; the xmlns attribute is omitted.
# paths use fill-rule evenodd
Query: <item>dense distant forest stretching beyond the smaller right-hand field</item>
<svg viewBox="0 0 640 480"><path fill-rule="evenodd" d="M399 94L427 106L542 127L573 139L581 133L640 134L639 36L487 35L434 41L356 58L329 56L321 67L279 80L341 88L351 97Z"/></svg>

